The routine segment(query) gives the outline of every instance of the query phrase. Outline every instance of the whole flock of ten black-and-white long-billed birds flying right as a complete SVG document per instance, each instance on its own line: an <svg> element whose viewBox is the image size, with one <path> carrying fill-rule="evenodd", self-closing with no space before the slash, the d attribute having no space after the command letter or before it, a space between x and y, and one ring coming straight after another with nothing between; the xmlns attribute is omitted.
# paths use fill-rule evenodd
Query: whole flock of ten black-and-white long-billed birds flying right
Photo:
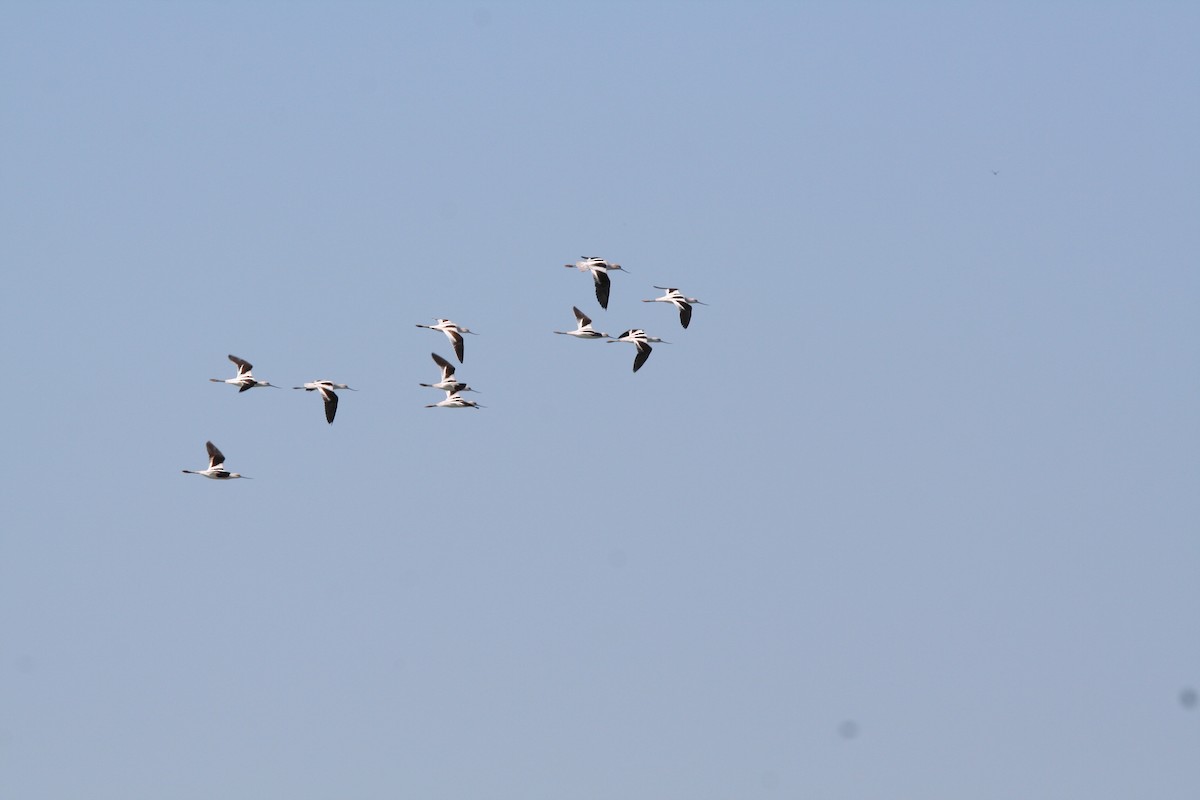
<svg viewBox="0 0 1200 800"><path fill-rule="evenodd" d="M596 258L593 255L586 255L581 260L574 264L564 264L568 269L575 267L581 272L588 272L592 275L592 279L595 284L596 301L604 309L608 308L608 294L612 288L612 281L608 277L610 272L622 271L626 275L629 270L625 270L620 264L614 264L612 261L606 261L602 258ZM707 303L701 302L695 297L684 296L682 291L672 287L660 287L655 285L655 289L665 291L661 297L652 297L649 300L643 300L642 302L666 302L671 303L679 311L679 324L685 329L691 324L691 307L692 306L704 306ZM634 355L634 372L642 368L646 360L650 357L650 351L653 348L652 343L658 344L670 344L661 338L655 336L649 336L644 330L640 327L631 327L628 331L623 331L617 336L608 336L607 333L600 332L592 327L592 318L578 309L577 306L571 308L575 312L575 330L574 331L554 331L562 336L574 336L580 339L606 339L608 344L613 342L626 342L637 348L637 353ZM476 333L470 329L463 327L449 319L438 319L436 325L422 325L416 324L418 327L426 327L431 331L442 331L450 339L450 344L454 348L454 354L458 359L458 363L463 362L463 333L470 333L475 336ZM475 401L467 399L463 397L463 392L475 392L474 389L462 383L455 377L455 366L446 359L442 357L437 353L431 354L433 356L433 363L436 363L442 369L442 380L436 384L420 384L421 386L427 386L428 389L437 389L445 392L445 399L437 403L428 403L425 408L484 408ZM254 366L240 359L235 355L229 355L229 360L233 361L234 366L238 367L238 373L233 378L209 378L210 381L216 384L229 384L236 386L239 392L250 391L251 389L258 387L270 387L281 389L275 384L265 380L259 380L254 377ZM325 404L325 421L330 425L334 423L334 416L337 414L337 391L350 389L346 384L335 384L332 380L311 380L301 386L293 386L293 389L302 389L308 392L320 392L320 398ZM478 392L476 392L478 393ZM239 473L230 473L224 467L224 453L222 453L216 445L211 441L205 443L205 447L209 453L209 467L208 469L185 469L184 473L188 475L203 475L217 481L226 481L236 477L248 477L247 475L241 475Z"/></svg>

